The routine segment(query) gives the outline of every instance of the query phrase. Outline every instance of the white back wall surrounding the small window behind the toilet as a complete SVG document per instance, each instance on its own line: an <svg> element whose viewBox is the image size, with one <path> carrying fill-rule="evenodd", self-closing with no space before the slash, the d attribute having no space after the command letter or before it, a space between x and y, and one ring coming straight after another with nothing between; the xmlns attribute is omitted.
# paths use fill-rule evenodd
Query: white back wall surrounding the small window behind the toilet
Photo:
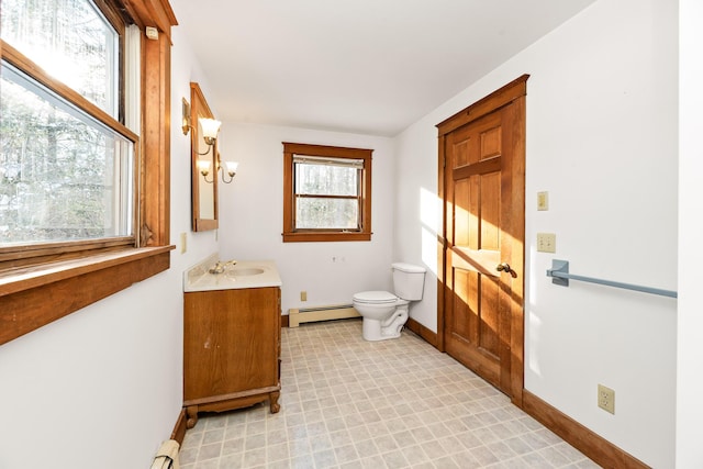
<svg viewBox="0 0 703 469"><path fill-rule="evenodd" d="M293 127L222 126L222 157L239 163L231 185L220 186L220 254L224 259L274 259L281 275L283 314L291 308L349 304L364 290L391 288L393 141ZM371 148L370 242L283 243L282 142ZM300 301L300 292L308 301Z"/></svg>

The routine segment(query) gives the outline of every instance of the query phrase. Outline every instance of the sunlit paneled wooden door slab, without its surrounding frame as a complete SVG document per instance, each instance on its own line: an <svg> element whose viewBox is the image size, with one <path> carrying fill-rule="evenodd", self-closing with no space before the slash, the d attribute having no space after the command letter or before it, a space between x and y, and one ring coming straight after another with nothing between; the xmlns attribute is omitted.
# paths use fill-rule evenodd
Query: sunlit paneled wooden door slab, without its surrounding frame
<svg viewBox="0 0 703 469"><path fill-rule="evenodd" d="M510 330L503 330L501 295L510 291L495 266L503 258L502 111L490 113L447 136L447 232L450 270L445 333L447 351L501 389ZM505 390L507 392L507 390Z"/></svg>

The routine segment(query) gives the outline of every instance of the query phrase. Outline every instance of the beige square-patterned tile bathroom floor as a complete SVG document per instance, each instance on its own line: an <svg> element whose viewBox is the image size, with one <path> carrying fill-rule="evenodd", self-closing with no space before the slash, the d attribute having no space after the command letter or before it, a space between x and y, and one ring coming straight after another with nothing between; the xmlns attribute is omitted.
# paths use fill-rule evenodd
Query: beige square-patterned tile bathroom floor
<svg viewBox="0 0 703 469"><path fill-rule="evenodd" d="M282 330L281 411L202 415L181 469L598 468L409 331L369 343L360 320Z"/></svg>

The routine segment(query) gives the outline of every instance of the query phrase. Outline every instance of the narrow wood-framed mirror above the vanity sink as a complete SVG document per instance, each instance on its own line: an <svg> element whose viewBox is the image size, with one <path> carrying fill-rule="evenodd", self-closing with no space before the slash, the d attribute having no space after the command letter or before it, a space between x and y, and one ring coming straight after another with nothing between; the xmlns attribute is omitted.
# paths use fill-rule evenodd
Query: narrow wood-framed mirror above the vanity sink
<svg viewBox="0 0 703 469"><path fill-rule="evenodd" d="M192 172L193 231L217 228L217 178L215 154L217 143L210 147L202 137L200 119L214 119L208 101L196 82L190 83L190 153Z"/></svg>

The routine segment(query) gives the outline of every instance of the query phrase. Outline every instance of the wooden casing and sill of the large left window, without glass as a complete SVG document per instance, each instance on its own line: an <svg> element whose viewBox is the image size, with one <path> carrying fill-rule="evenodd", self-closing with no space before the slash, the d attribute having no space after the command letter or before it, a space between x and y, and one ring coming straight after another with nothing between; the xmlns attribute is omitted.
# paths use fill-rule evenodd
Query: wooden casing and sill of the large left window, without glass
<svg viewBox="0 0 703 469"><path fill-rule="evenodd" d="M0 345L170 267L170 27L167 0L123 0L142 30L140 246L108 245L72 255L45 253L38 264L0 259ZM158 38L146 37L156 25ZM0 54L5 56L0 42ZM74 256L71 258L71 256ZM57 260L60 257L60 260Z"/></svg>

